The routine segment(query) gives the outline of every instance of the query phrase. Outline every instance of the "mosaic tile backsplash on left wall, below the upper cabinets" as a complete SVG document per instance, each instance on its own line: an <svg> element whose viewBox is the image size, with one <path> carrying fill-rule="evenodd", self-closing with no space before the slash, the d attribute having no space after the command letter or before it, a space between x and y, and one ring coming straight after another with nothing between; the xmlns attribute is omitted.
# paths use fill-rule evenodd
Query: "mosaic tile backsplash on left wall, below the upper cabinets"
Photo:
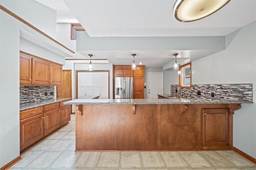
<svg viewBox="0 0 256 170"><path fill-rule="evenodd" d="M54 99L54 86L20 86L20 105Z"/></svg>

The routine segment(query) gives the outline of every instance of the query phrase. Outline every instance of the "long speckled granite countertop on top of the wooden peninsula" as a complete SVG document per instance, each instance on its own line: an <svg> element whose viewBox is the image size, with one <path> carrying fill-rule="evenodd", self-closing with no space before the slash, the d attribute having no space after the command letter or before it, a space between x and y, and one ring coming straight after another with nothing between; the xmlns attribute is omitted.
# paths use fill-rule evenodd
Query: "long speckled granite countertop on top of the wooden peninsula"
<svg viewBox="0 0 256 170"><path fill-rule="evenodd" d="M252 101L237 101L216 98L173 98L173 99L74 99L64 105L151 105L151 104L242 104Z"/></svg>

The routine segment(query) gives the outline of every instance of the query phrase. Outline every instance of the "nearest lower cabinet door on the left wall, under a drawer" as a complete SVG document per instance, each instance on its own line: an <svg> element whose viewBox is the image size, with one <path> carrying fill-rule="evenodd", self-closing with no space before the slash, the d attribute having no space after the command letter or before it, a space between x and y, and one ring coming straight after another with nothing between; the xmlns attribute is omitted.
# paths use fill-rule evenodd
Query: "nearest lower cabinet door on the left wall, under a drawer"
<svg viewBox="0 0 256 170"><path fill-rule="evenodd" d="M44 114L20 121L20 150L44 137Z"/></svg>

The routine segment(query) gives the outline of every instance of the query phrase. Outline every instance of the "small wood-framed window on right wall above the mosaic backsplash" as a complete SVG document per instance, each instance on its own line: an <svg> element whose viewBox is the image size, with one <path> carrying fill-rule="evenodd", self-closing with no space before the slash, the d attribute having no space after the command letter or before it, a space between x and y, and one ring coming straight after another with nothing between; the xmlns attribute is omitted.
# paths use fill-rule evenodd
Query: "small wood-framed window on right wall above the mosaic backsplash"
<svg viewBox="0 0 256 170"><path fill-rule="evenodd" d="M182 88L191 87L191 63L180 66L180 81L179 86Z"/></svg>

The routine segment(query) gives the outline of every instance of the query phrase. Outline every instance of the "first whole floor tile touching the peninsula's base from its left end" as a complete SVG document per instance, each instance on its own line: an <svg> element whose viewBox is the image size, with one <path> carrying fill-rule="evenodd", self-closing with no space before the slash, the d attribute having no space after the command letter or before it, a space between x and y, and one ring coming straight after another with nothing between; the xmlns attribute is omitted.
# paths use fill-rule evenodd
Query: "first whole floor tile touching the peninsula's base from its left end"
<svg viewBox="0 0 256 170"><path fill-rule="evenodd" d="M73 168L95 168L101 152L81 152Z"/></svg>

